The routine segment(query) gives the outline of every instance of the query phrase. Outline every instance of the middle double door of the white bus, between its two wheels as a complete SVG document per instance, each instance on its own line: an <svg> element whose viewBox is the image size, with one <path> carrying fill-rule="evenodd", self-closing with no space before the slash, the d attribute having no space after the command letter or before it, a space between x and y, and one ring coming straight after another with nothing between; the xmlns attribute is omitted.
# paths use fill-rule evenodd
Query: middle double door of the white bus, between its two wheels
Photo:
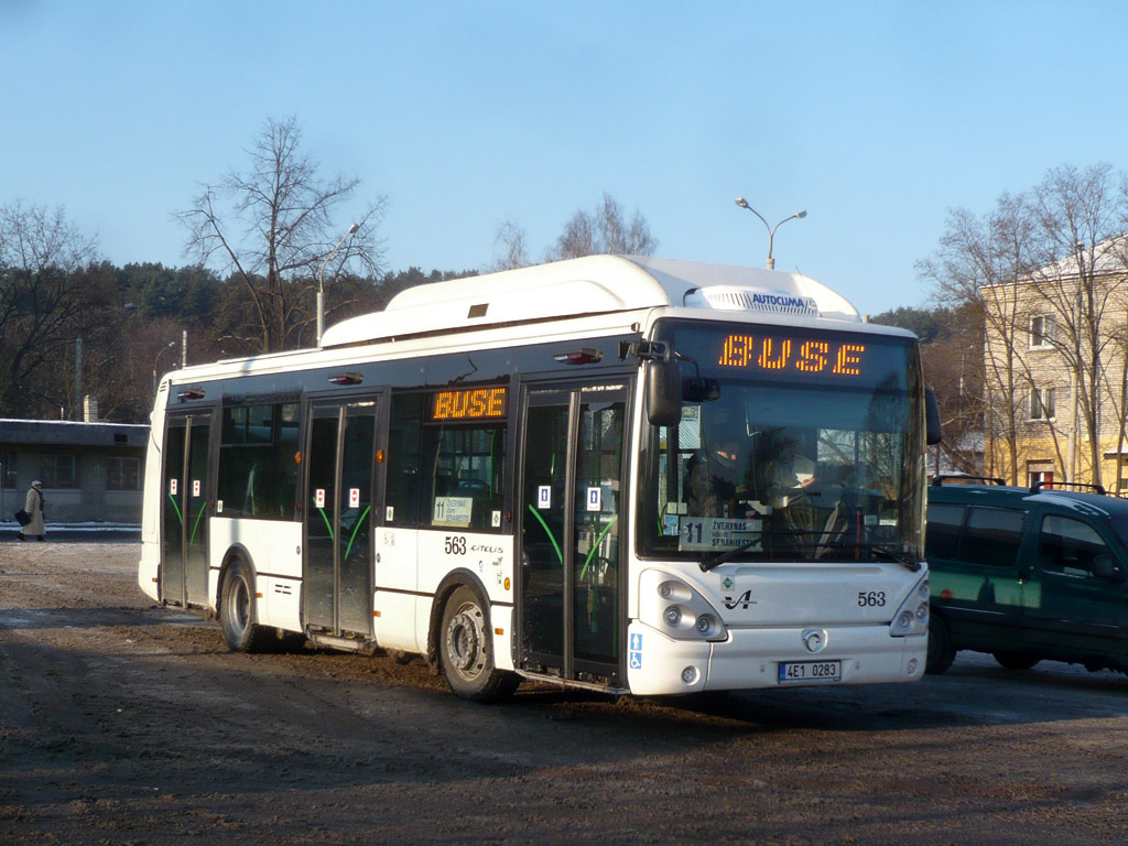
<svg viewBox="0 0 1128 846"><path fill-rule="evenodd" d="M311 407L306 449L306 625L371 636L376 400Z"/></svg>

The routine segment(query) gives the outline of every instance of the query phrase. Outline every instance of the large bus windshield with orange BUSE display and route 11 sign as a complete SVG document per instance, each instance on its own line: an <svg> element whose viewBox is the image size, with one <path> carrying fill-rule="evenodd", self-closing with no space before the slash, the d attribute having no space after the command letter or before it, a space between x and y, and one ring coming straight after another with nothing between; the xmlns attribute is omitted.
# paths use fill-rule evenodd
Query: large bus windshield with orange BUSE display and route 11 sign
<svg viewBox="0 0 1128 846"><path fill-rule="evenodd" d="M644 426L643 557L920 559L913 338L668 320L681 422Z"/></svg>

